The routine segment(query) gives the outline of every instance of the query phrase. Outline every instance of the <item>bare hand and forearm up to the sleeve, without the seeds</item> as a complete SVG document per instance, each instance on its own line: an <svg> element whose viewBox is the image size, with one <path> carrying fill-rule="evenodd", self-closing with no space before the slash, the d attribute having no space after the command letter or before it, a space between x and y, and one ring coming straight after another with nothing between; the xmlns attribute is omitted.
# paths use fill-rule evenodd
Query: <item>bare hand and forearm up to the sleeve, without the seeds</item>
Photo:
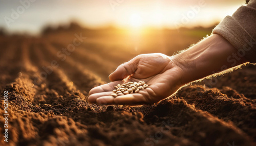
<svg viewBox="0 0 256 146"><path fill-rule="evenodd" d="M228 60L237 53L225 38L214 34L172 57L163 54L138 55L118 66L109 76L113 82L93 88L89 92L88 102L123 105L157 103L189 82L248 62L244 57L233 59L234 62ZM148 88L113 98L111 93L114 85L123 84L124 81L145 81Z"/></svg>

